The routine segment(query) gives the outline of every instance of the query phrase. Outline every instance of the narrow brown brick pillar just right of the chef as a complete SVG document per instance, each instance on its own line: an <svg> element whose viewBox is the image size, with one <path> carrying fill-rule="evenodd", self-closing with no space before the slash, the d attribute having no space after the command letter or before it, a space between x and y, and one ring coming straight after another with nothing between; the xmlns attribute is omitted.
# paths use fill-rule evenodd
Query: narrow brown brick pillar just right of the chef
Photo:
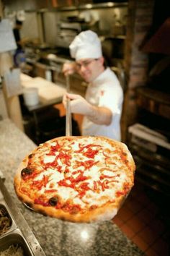
<svg viewBox="0 0 170 256"><path fill-rule="evenodd" d="M148 55L140 51L153 22L154 0L129 0L127 36L125 43L125 72L127 90L122 111L122 141L126 142L128 127L135 123L138 108L135 88L145 85L148 75Z"/></svg>

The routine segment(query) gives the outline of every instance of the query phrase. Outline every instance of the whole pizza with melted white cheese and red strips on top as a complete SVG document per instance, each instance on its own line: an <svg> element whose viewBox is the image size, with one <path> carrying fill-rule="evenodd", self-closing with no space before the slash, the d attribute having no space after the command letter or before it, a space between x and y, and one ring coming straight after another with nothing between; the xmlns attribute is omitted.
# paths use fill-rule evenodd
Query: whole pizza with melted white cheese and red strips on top
<svg viewBox="0 0 170 256"><path fill-rule="evenodd" d="M72 222L112 219L134 184L128 147L107 137L58 137L27 155L14 176L19 200Z"/></svg>

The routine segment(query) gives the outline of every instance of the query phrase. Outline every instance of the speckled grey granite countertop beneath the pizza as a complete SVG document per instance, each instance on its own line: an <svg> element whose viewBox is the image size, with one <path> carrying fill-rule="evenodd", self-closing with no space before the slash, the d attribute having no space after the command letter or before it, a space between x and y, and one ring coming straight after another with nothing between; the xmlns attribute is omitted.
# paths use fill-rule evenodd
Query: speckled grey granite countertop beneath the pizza
<svg viewBox="0 0 170 256"><path fill-rule="evenodd" d="M143 255L113 221L69 223L26 208L14 192L14 174L36 145L9 119L0 121L0 171L5 186L47 256Z"/></svg>

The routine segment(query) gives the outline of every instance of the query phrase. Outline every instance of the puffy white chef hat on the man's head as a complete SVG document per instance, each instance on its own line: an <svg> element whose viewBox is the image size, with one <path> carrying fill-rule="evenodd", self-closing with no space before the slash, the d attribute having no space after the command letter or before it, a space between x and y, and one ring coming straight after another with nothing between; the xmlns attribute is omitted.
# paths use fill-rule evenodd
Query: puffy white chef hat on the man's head
<svg viewBox="0 0 170 256"><path fill-rule="evenodd" d="M98 59L102 56L101 42L96 33L86 30L76 35L73 42L69 46L71 57L79 59Z"/></svg>

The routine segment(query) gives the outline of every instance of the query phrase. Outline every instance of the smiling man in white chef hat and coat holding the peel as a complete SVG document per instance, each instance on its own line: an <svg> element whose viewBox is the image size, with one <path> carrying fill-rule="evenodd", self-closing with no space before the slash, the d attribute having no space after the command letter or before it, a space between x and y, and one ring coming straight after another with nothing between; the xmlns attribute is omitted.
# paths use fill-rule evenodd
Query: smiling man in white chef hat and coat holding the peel
<svg viewBox="0 0 170 256"><path fill-rule="evenodd" d="M82 135L107 136L121 140L120 117L123 93L120 82L109 67L105 67L101 42L96 33L83 31L69 46L75 62L65 63L65 75L78 72L89 83L85 98L66 93L71 100L71 113L84 115Z"/></svg>

